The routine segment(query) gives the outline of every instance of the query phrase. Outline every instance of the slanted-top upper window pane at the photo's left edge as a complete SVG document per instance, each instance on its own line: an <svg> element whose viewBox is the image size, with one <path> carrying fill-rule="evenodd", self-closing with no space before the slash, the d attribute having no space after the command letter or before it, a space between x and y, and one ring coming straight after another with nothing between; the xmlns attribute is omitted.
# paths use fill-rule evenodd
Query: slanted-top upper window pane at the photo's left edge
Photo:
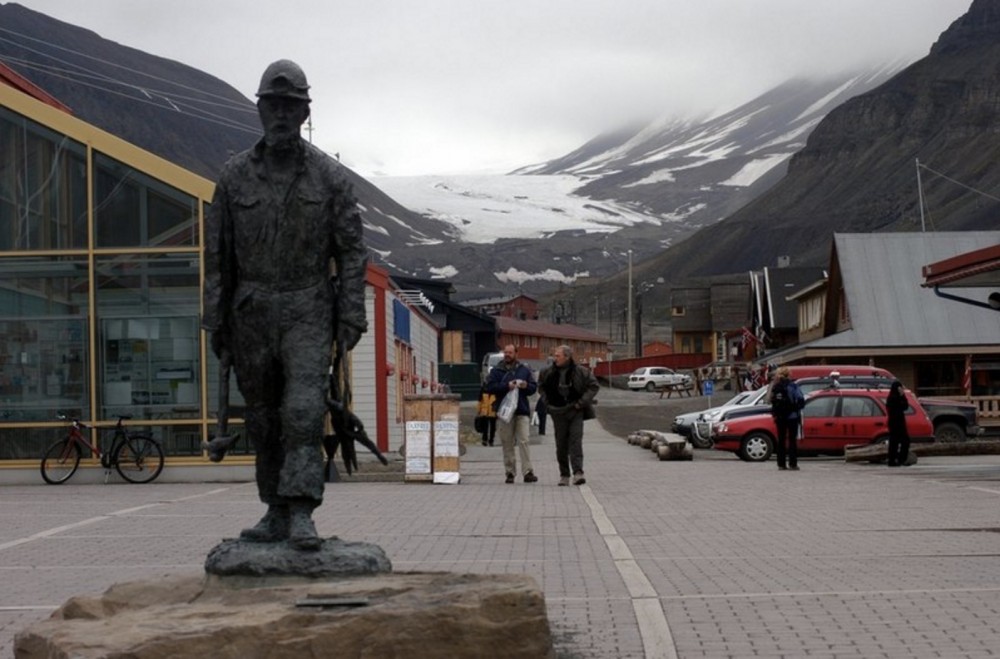
<svg viewBox="0 0 1000 659"><path fill-rule="evenodd" d="M0 108L0 251L87 247L83 145Z"/></svg>

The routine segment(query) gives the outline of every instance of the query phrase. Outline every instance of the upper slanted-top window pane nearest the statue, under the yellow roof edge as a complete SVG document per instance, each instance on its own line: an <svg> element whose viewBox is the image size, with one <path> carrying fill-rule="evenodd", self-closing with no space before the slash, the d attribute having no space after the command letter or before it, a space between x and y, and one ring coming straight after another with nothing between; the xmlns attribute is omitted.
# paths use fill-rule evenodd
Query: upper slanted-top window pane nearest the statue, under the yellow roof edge
<svg viewBox="0 0 1000 659"><path fill-rule="evenodd" d="M198 201L103 154L94 158L98 247L198 244Z"/></svg>

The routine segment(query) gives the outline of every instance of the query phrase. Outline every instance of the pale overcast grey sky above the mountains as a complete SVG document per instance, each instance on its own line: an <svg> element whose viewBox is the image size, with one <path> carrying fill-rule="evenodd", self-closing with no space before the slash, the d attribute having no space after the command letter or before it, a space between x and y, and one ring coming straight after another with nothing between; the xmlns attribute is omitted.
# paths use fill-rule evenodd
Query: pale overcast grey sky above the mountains
<svg viewBox="0 0 1000 659"><path fill-rule="evenodd" d="M504 172L634 115L728 110L799 74L925 55L972 0L21 0L253 97L312 85L365 175Z"/></svg>

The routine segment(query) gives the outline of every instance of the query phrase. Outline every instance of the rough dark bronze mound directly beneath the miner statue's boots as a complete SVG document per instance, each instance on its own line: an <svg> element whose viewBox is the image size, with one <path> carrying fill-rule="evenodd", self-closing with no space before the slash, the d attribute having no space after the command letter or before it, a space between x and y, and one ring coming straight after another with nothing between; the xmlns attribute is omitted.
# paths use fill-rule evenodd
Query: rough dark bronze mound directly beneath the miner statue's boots
<svg viewBox="0 0 1000 659"><path fill-rule="evenodd" d="M244 577L345 577L392 572L381 547L368 542L324 538L317 551L293 549L288 542L223 540L205 559L205 572Z"/></svg>

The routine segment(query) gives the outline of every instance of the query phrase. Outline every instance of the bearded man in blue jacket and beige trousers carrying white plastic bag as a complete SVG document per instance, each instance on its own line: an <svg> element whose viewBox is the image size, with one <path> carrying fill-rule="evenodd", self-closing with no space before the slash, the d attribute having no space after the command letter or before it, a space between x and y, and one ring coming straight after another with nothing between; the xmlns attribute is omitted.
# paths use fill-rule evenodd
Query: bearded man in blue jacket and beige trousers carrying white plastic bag
<svg viewBox="0 0 1000 659"><path fill-rule="evenodd" d="M497 434L500 435L500 445L503 447L503 466L507 471L508 483L514 482L517 473L517 461L514 456L514 444L517 443L521 454L521 473L525 483L538 480L531 468L531 453L528 450L528 425L531 418L531 405L528 396L538 390L538 383L531 369L517 361L517 348L513 345L504 346L503 361L490 370L486 380L486 391L496 396L494 405L499 411L504 397L513 392L517 396L517 410L509 422L497 418Z"/></svg>

